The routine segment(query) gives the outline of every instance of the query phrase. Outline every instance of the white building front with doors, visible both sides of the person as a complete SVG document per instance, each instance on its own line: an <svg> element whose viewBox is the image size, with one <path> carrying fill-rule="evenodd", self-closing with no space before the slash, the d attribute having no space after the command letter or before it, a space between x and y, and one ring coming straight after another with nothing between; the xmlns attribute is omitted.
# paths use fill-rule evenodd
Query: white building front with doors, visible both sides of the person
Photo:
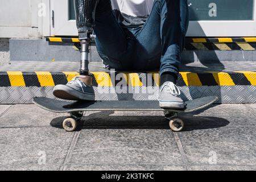
<svg viewBox="0 0 256 182"><path fill-rule="evenodd" d="M188 0L187 36L256 36L254 0ZM76 36L73 0L0 0L0 38Z"/></svg>

